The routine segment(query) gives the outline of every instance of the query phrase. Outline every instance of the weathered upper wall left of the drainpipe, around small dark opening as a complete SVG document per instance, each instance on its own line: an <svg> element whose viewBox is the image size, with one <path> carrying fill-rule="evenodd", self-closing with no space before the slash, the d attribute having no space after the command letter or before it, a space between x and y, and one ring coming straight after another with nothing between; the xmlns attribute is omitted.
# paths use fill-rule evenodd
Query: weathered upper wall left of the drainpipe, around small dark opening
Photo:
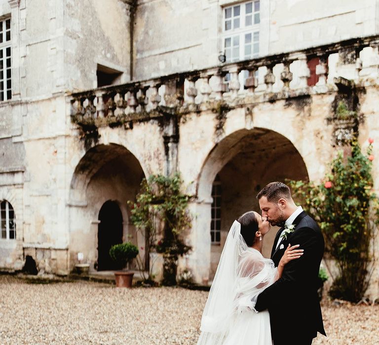
<svg viewBox="0 0 379 345"><path fill-rule="evenodd" d="M121 0L64 1L66 90L97 87L97 64L130 79L130 5ZM131 2L131 1L130 1Z"/></svg>

